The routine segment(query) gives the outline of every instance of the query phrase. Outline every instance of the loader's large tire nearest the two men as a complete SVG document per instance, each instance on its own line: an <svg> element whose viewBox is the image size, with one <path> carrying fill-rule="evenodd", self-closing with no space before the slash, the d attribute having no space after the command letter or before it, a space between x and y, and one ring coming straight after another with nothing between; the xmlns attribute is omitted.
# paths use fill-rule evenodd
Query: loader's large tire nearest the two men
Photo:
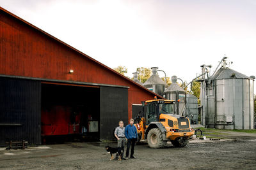
<svg viewBox="0 0 256 170"><path fill-rule="evenodd" d="M166 141L163 141L163 133L158 128L153 128L148 132L147 141L150 148L163 148Z"/></svg>

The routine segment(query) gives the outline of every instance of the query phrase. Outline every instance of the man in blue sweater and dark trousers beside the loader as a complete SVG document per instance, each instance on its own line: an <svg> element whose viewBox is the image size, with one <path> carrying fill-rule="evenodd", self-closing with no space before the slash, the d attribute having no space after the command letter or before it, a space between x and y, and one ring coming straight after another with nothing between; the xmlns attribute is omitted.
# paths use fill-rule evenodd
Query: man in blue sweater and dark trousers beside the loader
<svg viewBox="0 0 256 170"><path fill-rule="evenodd" d="M126 149L126 155L125 155L125 159L128 159L129 157L129 150L130 150L130 146L132 145L131 148L131 159L135 159L136 157L134 157L134 145L135 142L137 141L138 138L138 134L137 134L137 128L135 125L133 125L134 120L131 118L130 119L130 124L127 125L125 127L125 137L127 138L127 149Z"/></svg>

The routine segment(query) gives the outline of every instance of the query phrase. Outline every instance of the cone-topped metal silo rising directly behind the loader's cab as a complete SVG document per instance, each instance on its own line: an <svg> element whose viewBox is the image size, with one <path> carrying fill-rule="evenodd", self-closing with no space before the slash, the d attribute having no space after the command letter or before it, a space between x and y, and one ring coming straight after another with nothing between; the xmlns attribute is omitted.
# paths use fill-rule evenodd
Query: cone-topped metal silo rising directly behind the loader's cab
<svg viewBox="0 0 256 170"><path fill-rule="evenodd" d="M168 100L175 100L180 102L176 104L176 114L182 115L186 108L186 92L177 84L177 76L172 76L172 84L164 91L165 98Z"/></svg>

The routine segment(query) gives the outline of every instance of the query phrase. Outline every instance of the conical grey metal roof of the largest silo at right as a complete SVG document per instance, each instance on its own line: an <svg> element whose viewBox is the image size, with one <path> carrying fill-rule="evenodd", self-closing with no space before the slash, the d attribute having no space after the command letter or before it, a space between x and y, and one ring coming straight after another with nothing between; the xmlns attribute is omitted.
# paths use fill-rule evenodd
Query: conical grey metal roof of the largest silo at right
<svg viewBox="0 0 256 170"><path fill-rule="evenodd" d="M230 78L252 79L228 67L225 67L225 68L221 67L214 75L210 77L211 80L222 80L222 79L230 79Z"/></svg>

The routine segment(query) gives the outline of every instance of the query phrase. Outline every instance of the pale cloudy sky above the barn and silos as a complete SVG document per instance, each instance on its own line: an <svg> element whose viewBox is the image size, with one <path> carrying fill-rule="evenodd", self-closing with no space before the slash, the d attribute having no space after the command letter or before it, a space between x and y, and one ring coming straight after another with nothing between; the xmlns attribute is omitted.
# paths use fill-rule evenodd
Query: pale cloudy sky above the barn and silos
<svg viewBox="0 0 256 170"><path fill-rule="evenodd" d="M108 67L127 67L129 77L137 67L159 67L189 82L202 64L213 73L224 56L231 69L256 76L254 0L0 0L0 6Z"/></svg>

